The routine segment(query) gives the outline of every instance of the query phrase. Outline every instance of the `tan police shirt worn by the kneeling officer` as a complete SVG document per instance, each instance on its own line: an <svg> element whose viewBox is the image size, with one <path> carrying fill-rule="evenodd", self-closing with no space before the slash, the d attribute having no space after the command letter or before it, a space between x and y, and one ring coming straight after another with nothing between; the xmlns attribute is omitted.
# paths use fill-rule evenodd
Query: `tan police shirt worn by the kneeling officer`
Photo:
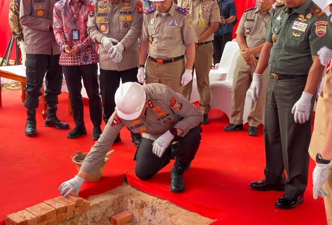
<svg viewBox="0 0 332 225"><path fill-rule="evenodd" d="M84 159L81 170L97 174L107 151L124 126L133 133L143 133L143 137L156 140L172 127L183 129L184 133L180 136L185 136L202 122L203 114L182 94L162 84L147 84L142 87L148 101L145 116L135 120L125 120L120 118L115 110L103 134Z"/></svg>

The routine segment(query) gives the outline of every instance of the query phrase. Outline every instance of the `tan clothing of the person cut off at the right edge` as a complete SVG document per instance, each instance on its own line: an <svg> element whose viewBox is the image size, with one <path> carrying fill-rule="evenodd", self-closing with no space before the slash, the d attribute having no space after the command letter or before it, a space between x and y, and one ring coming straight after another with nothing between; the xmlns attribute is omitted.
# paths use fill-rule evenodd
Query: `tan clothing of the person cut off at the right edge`
<svg viewBox="0 0 332 225"><path fill-rule="evenodd" d="M332 116L332 69L329 67L326 71L323 89L318 97L315 122L309 146L309 154L312 159L316 159L325 143L325 138ZM330 193L324 198L326 217L329 225L332 225L332 166L330 166L330 175L323 187ZM319 197L318 197L319 198Z"/></svg>

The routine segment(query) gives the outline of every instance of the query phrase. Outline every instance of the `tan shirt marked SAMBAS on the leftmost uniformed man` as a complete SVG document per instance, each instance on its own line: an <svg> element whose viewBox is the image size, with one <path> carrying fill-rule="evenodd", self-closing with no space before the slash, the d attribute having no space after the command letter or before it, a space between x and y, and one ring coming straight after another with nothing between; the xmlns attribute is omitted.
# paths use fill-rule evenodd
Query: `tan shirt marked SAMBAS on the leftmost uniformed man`
<svg viewBox="0 0 332 225"><path fill-rule="evenodd" d="M58 55L54 46L53 7L57 0L21 0L20 22L23 25L25 51L27 54Z"/></svg>

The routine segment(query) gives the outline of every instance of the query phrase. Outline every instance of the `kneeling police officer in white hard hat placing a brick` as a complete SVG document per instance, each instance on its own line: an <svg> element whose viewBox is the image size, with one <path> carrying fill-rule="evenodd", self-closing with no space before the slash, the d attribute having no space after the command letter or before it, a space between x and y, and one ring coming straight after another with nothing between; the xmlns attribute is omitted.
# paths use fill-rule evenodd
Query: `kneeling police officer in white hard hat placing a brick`
<svg viewBox="0 0 332 225"><path fill-rule="evenodd" d="M116 109L103 134L92 146L75 178L59 187L66 197L78 192L83 181L96 175L120 130L127 126L133 133L143 133L134 160L135 173L141 180L149 180L176 158L171 170L170 191L186 190L183 173L190 167L201 141L203 114L187 99L163 84L127 82L115 93ZM172 141L178 148L169 148ZM69 190L65 193L66 190Z"/></svg>

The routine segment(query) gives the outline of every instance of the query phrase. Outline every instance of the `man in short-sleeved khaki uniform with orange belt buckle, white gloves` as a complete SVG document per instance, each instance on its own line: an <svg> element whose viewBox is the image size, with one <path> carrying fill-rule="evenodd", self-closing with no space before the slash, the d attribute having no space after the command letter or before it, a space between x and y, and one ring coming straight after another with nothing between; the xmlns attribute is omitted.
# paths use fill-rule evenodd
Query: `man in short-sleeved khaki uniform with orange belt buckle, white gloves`
<svg viewBox="0 0 332 225"><path fill-rule="evenodd" d="M172 0L152 0L152 3L154 8L147 10L140 36L137 79L144 83L146 72L146 84L164 84L182 94L183 87L192 80L198 41L193 21L189 12Z"/></svg>

